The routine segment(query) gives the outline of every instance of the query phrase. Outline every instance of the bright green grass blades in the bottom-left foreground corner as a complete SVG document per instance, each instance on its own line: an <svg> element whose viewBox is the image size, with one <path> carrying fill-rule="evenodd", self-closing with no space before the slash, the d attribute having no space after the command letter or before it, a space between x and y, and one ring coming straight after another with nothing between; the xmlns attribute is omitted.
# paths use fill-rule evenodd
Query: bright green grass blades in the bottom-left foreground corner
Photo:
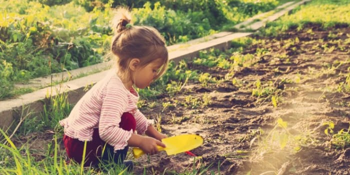
<svg viewBox="0 0 350 175"><path fill-rule="evenodd" d="M49 143L44 157L38 158L32 150L23 144L19 147L0 129L0 174L96 174L99 170L92 167L82 167L81 164L71 161L66 163L65 156L59 153L57 135L53 135L53 142ZM85 149L84 149L85 150ZM105 173L129 174L126 168L115 164L104 166Z"/></svg>

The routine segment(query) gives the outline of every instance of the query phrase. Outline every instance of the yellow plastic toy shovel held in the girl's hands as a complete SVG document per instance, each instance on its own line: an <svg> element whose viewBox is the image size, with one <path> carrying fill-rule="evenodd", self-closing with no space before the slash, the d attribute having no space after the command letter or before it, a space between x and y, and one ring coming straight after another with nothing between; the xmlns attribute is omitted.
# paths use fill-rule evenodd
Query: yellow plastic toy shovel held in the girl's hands
<svg viewBox="0 0 350 175"><path fill-rule="evenodd" d="M165 150L167 155L185 152L200 146L203 143L203 138L195 134L182 134L161 139L166 147L158 146L158 150ZM132 149L133 156L138 158L144 152L138 147Z"/></svg>

